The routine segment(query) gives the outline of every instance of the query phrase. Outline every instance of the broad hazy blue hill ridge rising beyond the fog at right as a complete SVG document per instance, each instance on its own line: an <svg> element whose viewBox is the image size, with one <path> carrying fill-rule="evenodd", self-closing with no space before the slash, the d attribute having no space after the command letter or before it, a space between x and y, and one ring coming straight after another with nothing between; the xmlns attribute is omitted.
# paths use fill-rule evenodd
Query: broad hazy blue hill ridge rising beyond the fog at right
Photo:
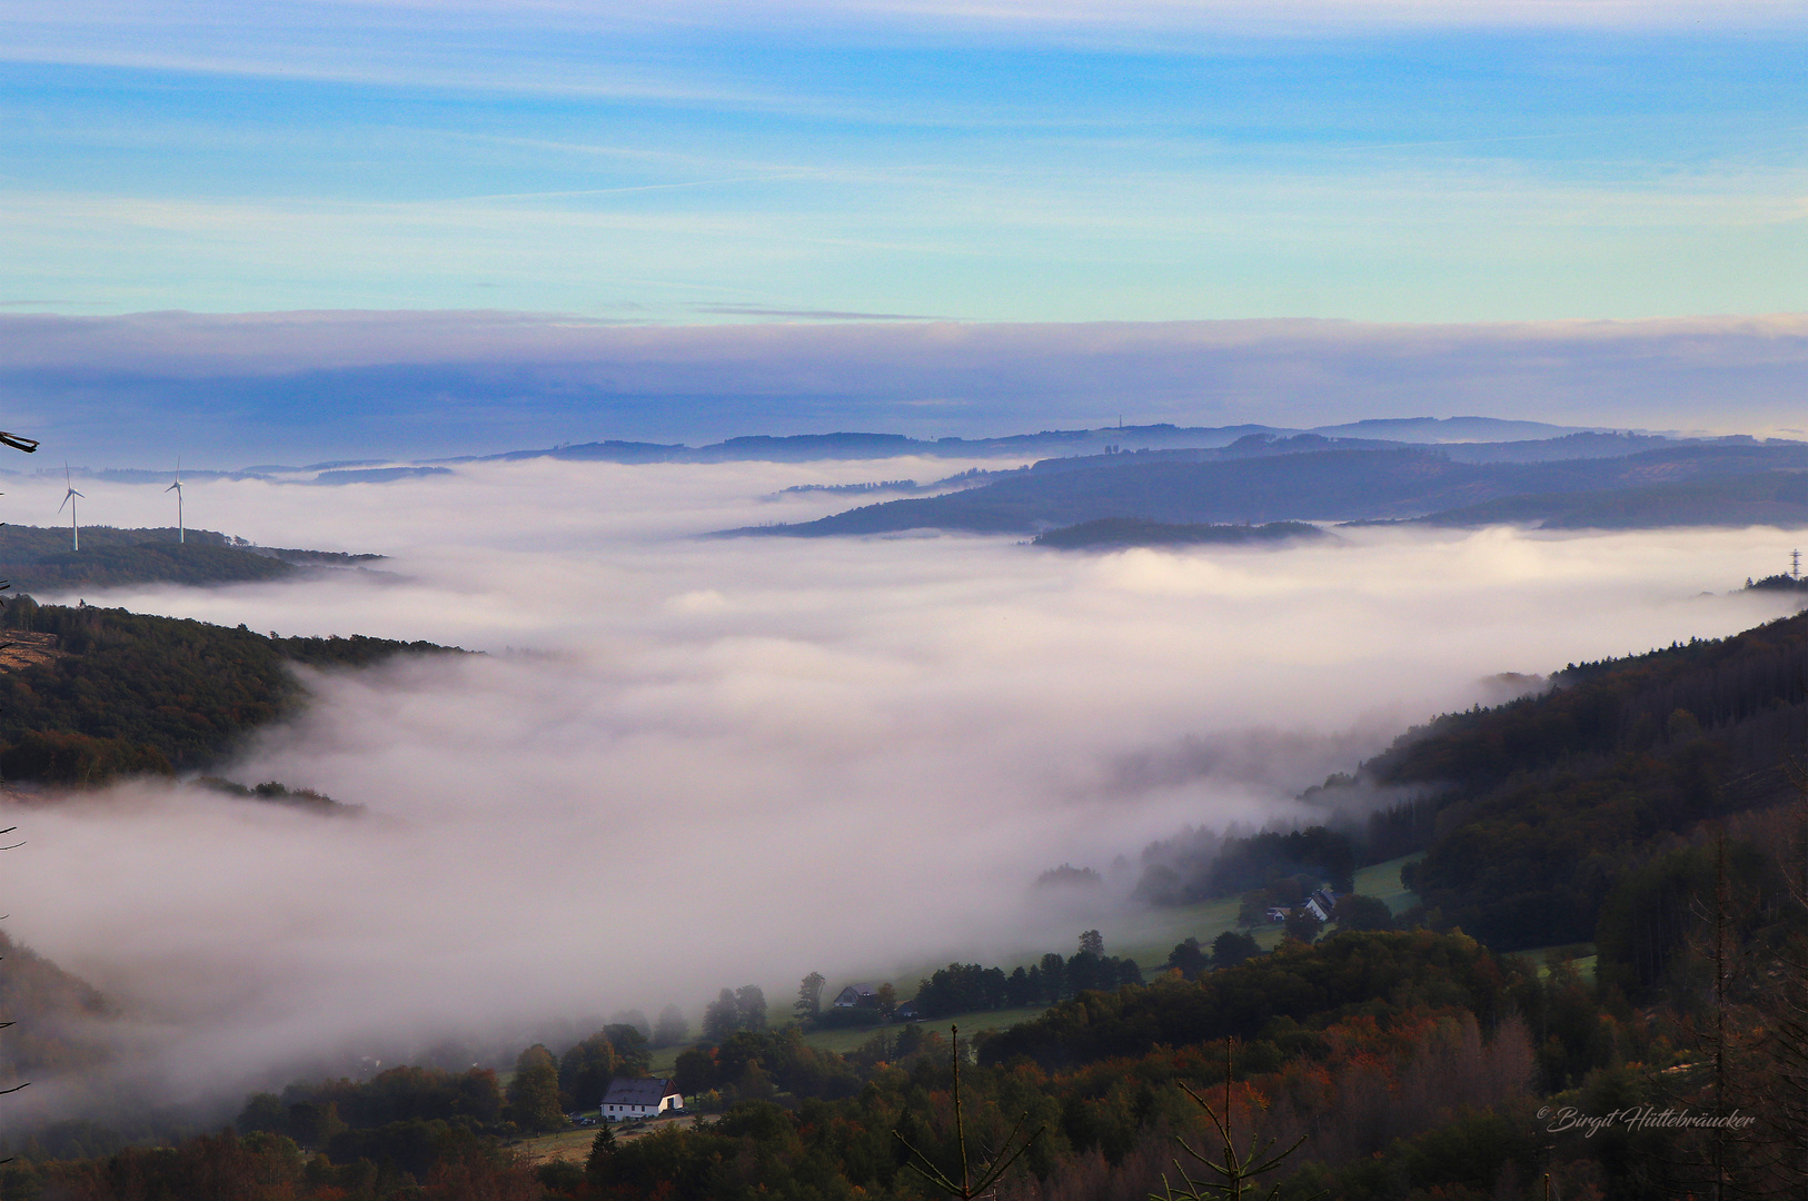
<svg viewBox="0 0 1808 1201"><path fill-rule="evenodd" d="M1322 441L1322 440L1320 440ZM1461 461L1432 449L1322 449L1242 454L1172 450L1045 459L984 487L866 505L819 521L738 534L823 537L913 528L1025 534L1103 517L1161 523L1269 523L1416 519L1515 496L1613 492L1698 479L1808 470L1808 445L1727 440L1640 450L1620 458L1544 463ZM1808 503L1777 485L1765 519L1808 523ZM1705 492L1627 501L1618 525L1725 523L1728 497ZM1741 501L1745 503L1745 501ZM1560 515L1553 510L1553 517ZM1484 510L1486 519L1486 510ZM1510 519L1510 517L1499 517Z"/></svg>

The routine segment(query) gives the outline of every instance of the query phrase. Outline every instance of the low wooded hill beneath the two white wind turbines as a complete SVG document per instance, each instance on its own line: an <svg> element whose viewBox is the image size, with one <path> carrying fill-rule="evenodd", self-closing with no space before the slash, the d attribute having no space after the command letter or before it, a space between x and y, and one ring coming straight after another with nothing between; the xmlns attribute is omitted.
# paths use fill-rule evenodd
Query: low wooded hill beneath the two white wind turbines
<svg viewBox="0 0 1808 1201"><path fill-rule="evenodd" d="M116 530L85 526L72 550L67 526L0 526L0 579L22 591L116 588L123 584L240 584L284 579L297 568L213 530Z"/></svg>

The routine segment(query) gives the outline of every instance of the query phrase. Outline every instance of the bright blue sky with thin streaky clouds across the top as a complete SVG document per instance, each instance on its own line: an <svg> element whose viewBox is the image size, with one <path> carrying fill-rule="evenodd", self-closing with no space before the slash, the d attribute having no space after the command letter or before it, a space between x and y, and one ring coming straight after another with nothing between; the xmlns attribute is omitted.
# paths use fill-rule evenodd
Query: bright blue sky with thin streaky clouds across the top
<svg viewBox="0 0 1808 1201"><path fill-rule="evenodd" d="M1788 5L212 9L0 4L4 311L1808 309Z"/></svg>

